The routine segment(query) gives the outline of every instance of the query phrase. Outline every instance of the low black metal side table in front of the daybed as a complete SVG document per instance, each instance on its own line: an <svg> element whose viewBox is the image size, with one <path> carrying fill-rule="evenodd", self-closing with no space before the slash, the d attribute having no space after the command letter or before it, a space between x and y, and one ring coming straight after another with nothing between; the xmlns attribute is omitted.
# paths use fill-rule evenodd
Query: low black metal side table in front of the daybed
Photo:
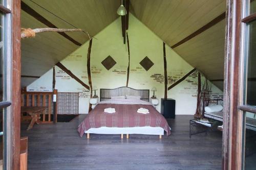
<svg viewBox="0 0 256 170"><path fill-rule="evenodd" d="M209 119L209 121L212 123L210 123L210 126L208 127L206 125L197 123L198 120L199 120L199 118L189 120L189 138L191 138L191 135L195 135L195 134L199 134L199 133L205 133L205 135L207 135L208 129L212 128L212 125L218 122L218 120ZM203 130L201 130L199 132L198 131L194 132L194 129L193 129L194 127L199 127L199 128L202 128Z"/></svg>

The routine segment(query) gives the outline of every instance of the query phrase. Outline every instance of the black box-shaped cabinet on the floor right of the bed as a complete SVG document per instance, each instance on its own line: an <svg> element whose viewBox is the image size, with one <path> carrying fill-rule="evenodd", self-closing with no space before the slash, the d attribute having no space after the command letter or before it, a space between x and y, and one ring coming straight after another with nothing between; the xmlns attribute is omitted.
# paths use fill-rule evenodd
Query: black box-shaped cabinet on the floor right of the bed
<svg viewBox="0 0 256 170"><path fill-rule="evenodd" d="M175 100L161 99L161 114L165 118L175 118Z"/></svg>

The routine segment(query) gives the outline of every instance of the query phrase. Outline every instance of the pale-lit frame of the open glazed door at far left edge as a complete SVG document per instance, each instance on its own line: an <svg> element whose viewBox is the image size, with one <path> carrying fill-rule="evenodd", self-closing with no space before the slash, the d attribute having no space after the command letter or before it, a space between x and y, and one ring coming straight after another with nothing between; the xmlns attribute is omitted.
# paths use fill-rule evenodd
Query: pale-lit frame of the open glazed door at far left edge
<svg viewBox="0 0 256 170"><path fill-rule="evenodd" d="M6 0L0 5L3 21L3 100L0 109L3 109L3 169L12 169L12 1ZM9 7L9 8L8 8Z"/></svg>

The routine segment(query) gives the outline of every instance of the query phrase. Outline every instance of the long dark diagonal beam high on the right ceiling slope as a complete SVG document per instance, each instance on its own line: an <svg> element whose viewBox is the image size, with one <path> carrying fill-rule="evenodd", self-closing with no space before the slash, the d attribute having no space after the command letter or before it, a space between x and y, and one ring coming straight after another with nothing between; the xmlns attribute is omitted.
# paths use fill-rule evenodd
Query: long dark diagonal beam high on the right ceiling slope
<svg viewBox="0 0 256 170"><path fill-rule="evenodd" d="M225 19L226 17L226 12L223 12L222 14L220 14L219 16L217 16L216 18L214 18L213 20L211 20L210 22L208 22L206 25L204 25L203 27L201 27L199 30L197 30L196 32L190 34L189 36L187 36L186 38L182 39L181 41L177 42L176 44L174 44L173 46L171 46L171 48L175 48L183 43L185 43L186 41L190 40L191 38L194 38L195 36L201 34L202 32L204 32L205 30L211 28L212 26L216 25L217 23L219 23L220 21L222 21L223 19Z"/></svg>

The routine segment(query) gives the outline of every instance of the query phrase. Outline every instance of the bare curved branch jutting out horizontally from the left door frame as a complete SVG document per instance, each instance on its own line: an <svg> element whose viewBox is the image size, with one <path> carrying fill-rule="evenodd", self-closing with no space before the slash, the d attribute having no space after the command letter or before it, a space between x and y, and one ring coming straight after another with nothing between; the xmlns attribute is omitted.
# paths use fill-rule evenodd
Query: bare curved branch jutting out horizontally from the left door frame
<svg viewBox="0 0 256 170"><path fill-rule="evenodd" d="M22 38L29 38L29 37L35 37L36 33L41 33L41 32L78 32L82 31L82 29L57 29L57 28L39 28L39 29L22 29ZM85 32L89 39L91 40L91 36L88 32Z"/></svg>

